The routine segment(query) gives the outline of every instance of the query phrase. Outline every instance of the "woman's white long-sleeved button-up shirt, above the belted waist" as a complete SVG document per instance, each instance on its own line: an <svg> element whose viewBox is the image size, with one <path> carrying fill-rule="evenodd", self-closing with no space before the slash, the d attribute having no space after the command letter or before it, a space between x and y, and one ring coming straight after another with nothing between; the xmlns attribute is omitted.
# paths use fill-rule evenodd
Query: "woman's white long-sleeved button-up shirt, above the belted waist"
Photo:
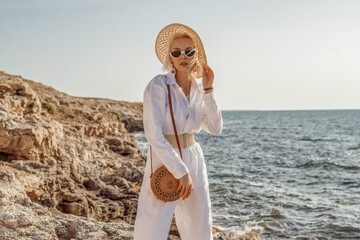
<svg viewBox="0 0 360 240"><path fill-rule="evenodd" d="M181 160L178 150L175 150L164 137L164 134L175 135L166 84L170 85L171 102L178 135L199 133L201 129L210 134L219 135L223 128L223 119L216 104L214 92L205 94L202 83L198 84L196 80L192 80L190 103L182 88L177 84L173 73L158 74L148 83L144 91L143 101L145 137L151 145L152 156L154 157L154 152L157 156L161 156L161 161L165 167L175 178L179 179L187 174L189 169ZM195 147L200 147L199 144L195 145ZM182 151L186 151L186 148Z"/></svg>

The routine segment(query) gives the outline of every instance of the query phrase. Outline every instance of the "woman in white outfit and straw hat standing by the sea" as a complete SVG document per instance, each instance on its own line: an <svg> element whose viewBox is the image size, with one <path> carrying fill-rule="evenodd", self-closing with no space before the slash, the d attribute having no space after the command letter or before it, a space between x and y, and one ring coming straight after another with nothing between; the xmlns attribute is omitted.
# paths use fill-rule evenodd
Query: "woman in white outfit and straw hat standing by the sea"
<svg viewBox="0 0 360 240"><path fill-rule="evenodd" d="M212 240L209 184L204 155L193 140L201 129L219 135L223 120L213 92L214 73L206 63L200 38L182 24L170 24L160 31L156 41L160 62L169 70L155 76L146 86L143 122L146 139L152 149L152 168L166 166L179 179L180 199L164 202L151 191L151 162L146 162L134 228L135 240L166 240L173 214L182 240ZM195 78L202 77L202 84ZM182 157L174 144L167 84L180 142ZM147 153L150 160L150 151Z"/></svg>

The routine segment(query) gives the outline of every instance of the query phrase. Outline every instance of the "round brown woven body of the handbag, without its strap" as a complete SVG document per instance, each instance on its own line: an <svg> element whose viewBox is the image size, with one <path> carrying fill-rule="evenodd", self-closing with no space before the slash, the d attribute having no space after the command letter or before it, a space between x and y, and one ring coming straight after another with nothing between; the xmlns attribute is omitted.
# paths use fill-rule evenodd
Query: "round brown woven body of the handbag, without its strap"
<svg viewBox="0 0 360 240"><path fill-rule="evenodd" d="M179 179L176 179L165 166L158 168L151 177L151 190L155 197L164 202L173 202L180 198Z"/></svg>

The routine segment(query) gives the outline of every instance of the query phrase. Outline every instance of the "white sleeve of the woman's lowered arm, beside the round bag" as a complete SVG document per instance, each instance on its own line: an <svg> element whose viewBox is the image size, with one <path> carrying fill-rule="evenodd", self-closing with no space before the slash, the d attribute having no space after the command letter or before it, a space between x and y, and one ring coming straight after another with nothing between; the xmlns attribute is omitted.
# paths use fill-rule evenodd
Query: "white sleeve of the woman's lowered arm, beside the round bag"
<svg viewBox="0 0 360 240"><path fill-rule="evenodd" d="M150 81L144 91L143 123L145 137L165 167L176 179L189 172L179 154L164 137L166 83L160 77ZM153 154L154 156L154 154Z"/></svg>

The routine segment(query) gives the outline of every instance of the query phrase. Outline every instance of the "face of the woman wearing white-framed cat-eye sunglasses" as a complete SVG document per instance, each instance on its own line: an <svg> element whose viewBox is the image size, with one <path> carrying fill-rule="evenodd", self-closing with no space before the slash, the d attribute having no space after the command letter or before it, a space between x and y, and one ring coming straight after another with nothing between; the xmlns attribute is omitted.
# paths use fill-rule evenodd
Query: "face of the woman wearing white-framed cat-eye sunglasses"
<svg viewBox="0 0 360 240"><path fill-rule="evenodd" d="M195 44L191 38L181 37L175 38L170 45L170 51L187 51L195 48ZM180 58L176 59L170 55L171 61L174 63L176 71L188 72L194 66L197 54L192 58L187 58L184 54L181 54Z"/></svg>

